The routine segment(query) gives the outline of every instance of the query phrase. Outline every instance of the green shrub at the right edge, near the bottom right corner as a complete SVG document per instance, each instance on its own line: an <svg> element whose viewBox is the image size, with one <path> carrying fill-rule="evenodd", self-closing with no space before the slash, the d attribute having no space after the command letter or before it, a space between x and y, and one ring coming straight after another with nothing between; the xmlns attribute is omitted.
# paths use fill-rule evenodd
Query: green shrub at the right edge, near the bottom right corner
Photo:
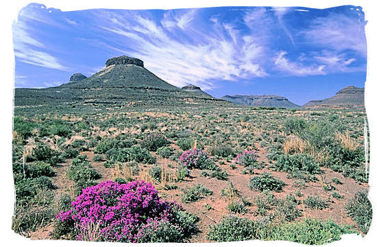
<svg viewBox="0 0 377 247"><path fill-rule="evenodd" d="M357 223L358 228L365 234L372 223L372 204L368 200L368 191L361 190L356 193L345 207L348 215Z"/></svg>

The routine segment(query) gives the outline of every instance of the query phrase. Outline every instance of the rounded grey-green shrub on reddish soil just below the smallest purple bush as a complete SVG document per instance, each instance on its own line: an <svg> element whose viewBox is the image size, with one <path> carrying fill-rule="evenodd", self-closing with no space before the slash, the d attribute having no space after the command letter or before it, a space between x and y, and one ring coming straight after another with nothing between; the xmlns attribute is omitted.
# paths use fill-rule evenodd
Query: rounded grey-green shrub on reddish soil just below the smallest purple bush
<svg viewBox="0 0 377 247"><path fill-rule="evenodd" d="M258 191L282 191L284 182L279 178L274 178L269 173L263 173L260 176L254 176L250 178L249 187L250 189L256 189Z"/></svg>

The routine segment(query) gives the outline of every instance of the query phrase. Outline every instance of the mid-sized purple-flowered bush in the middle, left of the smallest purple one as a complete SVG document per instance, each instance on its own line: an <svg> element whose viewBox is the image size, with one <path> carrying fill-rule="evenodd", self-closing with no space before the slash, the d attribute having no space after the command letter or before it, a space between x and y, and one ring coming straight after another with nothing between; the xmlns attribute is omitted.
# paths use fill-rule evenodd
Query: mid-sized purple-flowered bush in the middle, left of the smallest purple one
<svg viewBox="0 0 377 247"><path fill-rule="evenodd" d="M217 169L212 158L206 152L197 148L183 152L180 156L180 162L188 169Z"/></svg>

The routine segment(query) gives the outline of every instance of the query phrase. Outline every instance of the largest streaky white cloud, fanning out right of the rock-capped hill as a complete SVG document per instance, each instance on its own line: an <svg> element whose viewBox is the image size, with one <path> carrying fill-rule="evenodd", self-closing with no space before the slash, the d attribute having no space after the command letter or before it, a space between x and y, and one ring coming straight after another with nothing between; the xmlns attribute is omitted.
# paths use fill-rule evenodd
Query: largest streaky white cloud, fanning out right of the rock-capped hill
<svg viewBox="0 0 377 247"><path fill-rule="evenodd" d="M164 28L167 25L188 28L189 16L193 14L192 10L173 18L168 14L159 22L137 15L132 18L136 21L132 26L122 25L121 18L113 15L109 21L117 25L101 28L123 36L125 43L132 43L132 50L124 48L123 53L141 58L147 69L175 86L197 84L209 90L219 80L267 75L258 64L264 49L257 42L258 37L242 36L231 23L213 23L214 32L195 30L195 40L184 36L177 38L177 33ZM114 47L114 50L122 48Z"/></svg>

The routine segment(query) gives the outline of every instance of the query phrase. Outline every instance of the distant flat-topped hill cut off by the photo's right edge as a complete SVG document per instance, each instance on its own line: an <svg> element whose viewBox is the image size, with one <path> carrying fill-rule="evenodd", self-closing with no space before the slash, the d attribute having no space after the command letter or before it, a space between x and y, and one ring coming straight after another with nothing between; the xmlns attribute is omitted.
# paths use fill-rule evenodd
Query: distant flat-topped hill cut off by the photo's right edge
<svg viewBox="0 0 377 247"><path fill-rule="evenodd" d="M333 97L328 99L312 100L303 108L333 108L333 107L362 107L364 106L364 88L346 86Z"/></svg>

